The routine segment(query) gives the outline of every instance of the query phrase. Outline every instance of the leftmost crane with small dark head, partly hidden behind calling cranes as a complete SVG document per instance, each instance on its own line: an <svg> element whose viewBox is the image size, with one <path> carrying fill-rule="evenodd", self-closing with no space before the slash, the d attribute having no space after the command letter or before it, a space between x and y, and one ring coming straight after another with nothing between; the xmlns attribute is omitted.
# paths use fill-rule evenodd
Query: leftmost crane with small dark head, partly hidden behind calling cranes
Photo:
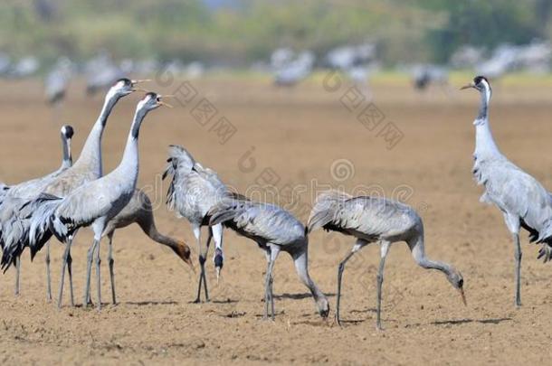
<svg viewBox="0 0 552 366"><path fill-rule="evenodd" d="M5 248L5 243L8 246L12 245L14 238L14 225L18 220L19 206L25 199L33 197L35 194L42 192L43 187L50 183L52 179L57 177L63 171L68 169L72 164L71 156L71 138L73 136L73 128L69 125L62 126L62 165L58 170L52 174L43 176L42 178L35 178L30 181L16 184L14 186L5 186L2 194L2 202L0 202L0 246ZM14 264L16 268L15 274L15 295L19 295L20 292L20 270L21 270L21 253L14 258ZM7 268L6 268L7 269ZM47 276L47 296L48 299L52 299L51 280L50 280L50 245L46 247L46 276Z"/></svg>

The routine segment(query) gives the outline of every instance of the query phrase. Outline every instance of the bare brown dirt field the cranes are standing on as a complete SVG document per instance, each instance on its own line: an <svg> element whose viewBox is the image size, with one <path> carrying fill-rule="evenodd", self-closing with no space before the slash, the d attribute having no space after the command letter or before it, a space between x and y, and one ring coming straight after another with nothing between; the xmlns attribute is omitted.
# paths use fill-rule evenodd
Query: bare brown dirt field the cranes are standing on
<svg viewBox="0 0 552 366"><path fill-rule="evenodd" d="M371 125L357 120L366 102L357 108L350 98L342 103L351 97L342 98L345 86L332 91L321 81L312 81L295 89L274 89L259 80L203 80L192 85L197 94L190 103L186 105L179 94L173 103L176 108L152 112L140 135L139 184L147 186L157 202L159 230L185 239L196 258L187 223L176 219L164 204L167 184L159 182L159 174L169 144L185 145L229 185L255 198L285 204L301 221L306 221L318 189L379 192L404 199L420 211L428 255L462 270L468 307L442 274L417 267L407 247L397 243L385 267L384 332L376 331L376 245L347 265L342 328L319 318L286 254L275 267L277 318L265 322L261 301L265 260L252 241L226 232L223 279L217 286L209 259L212 302L195 305L190 302L195 298L196 275L169 249L149 240L138 227L130 227L115 236L118 305L109 304L107 245L102 243L105 305L100 312L71 308L67 296L62 310L48 303L43 253L31 264L25 252L22 294L14 297L13 269L2 278L0 363L549 362L552 268L536 260L538 247L529 245L524 234L524 306L516 310L509 233L500 212L479 202L481 189L471 179L471 121L479 103L475 90L434 89L419 95L406 86L378 84L375 105L383 117L375 126L375 119L369 120ZM72 85L70 98L54 116L43 103L39 84L3 82L0 87L0 180L17 183L56 169L62 123L75 127L73 146L78 155L102 97L86 99L82 85ZM157 89L183 92L176 81ZM490 118L502 151L552 189L550 90L552 86L496 85ZM217 109L205 126L193 112L202 98ZM109 118L103 141L106 172L119 163L137 100L138 96L121 100ZM220 117L236 129L224 144L221 125L215 125ZM382 132L392 126L389 122L403 136L391 149ZM275 189L262 187L265 183ZM285 193L291 186L298 195L293 202ZM310 275L328 295L333 319L338 262L353 240L319 231L309 241ZM79 305L90 242L90 230L81 230L73 245ZM53 243L52 256L55 296L61 245ZM95 301L95 286L92 298Z"/></svg>

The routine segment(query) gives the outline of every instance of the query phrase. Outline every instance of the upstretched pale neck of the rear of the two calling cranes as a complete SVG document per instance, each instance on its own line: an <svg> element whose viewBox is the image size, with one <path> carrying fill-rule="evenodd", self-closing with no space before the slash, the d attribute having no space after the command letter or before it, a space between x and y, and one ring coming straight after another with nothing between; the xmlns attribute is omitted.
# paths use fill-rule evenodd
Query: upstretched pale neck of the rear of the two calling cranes
<svg viewBox="0 0 552 366"><path fill-rule="evenodd" d="M75 162L74 166L85 166L87 170L98 174L98 177L102 175L101 165L101 136L103 135L103 129L105 128L109 114L115 104L119 101L119 96L109 92L101 108L100 116L96 120L96 123L92 127L90 134L86 138L86 142L82 147L81 155Z"/></svg>

